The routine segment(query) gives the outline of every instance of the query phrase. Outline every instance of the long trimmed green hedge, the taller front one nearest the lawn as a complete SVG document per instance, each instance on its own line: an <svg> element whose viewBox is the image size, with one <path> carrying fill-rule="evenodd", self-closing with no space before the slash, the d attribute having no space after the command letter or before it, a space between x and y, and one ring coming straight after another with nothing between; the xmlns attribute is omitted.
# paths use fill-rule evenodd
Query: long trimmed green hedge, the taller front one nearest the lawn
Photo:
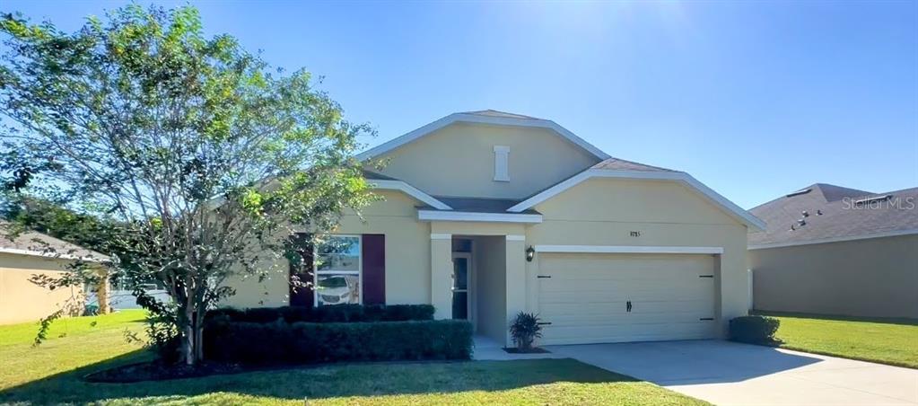
<svg viewBox="0 0 918 406"><path fill-rule="evenodd" d="M205 357L242 364L469 359L468 321L211 321Z"/></svg>

